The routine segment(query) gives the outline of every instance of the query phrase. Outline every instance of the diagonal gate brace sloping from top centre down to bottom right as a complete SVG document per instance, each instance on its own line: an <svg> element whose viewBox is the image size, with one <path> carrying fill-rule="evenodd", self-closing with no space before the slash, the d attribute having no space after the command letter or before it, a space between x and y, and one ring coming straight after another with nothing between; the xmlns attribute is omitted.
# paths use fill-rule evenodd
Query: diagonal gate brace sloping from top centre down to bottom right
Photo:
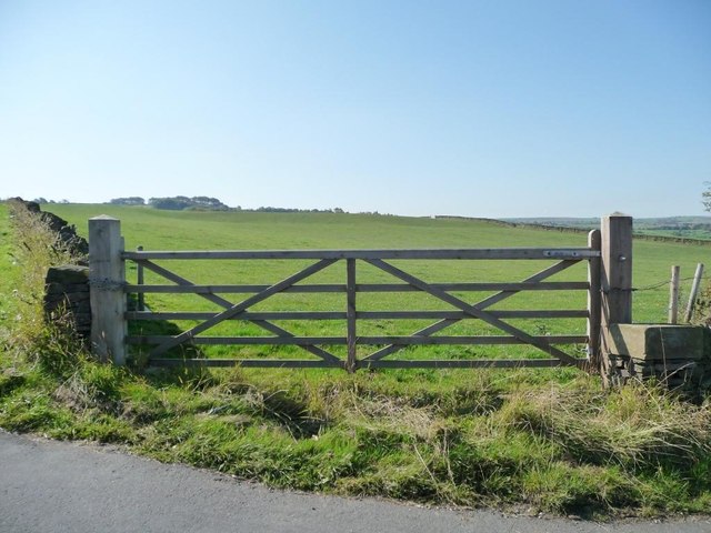
<svg viewBox="0 0 711 533"><path fill-rule="evenodd" d="M487 311L483 311L481 308L478 308L475 305L470 305L469 303L464 302L463 300L460 300L457 296L453 296L451 294L449 294L448 292L438 289L435 286L432 286L430 283L415 278L412 274L409 274L400 269L398 269L397 266L393 266L390 263L387 263L385 261L381 260L381 259L365 259L365 262L372 264L373 266L377 266L380 270L383 270L384 272L388 272L389 274L401 279L402 281L409 283L412 286L415 286L418 289L420 289L421 291L424 291L440 300L442 300L445 303L449 303L450 305L453 305L458 309L460 309L461 311L463 311L467 314L470 314L471 316L474 316L477 319L480 319L484 322L487 322L490 325L493 325L494 328L504 331L507 333L509 333L510 335L514 336L515 339L519 339L523 342L525 342L527 344L531 344L532 346L538 348L539 350L553 355L555 358L558 358L560 361L568 363L568 364L572 364L572 365L577 365L579 363L579 360L577 358L573 358L569 354L567 354L565 352L563 352L562 350L557 349L555 346L552 346L550 344L547 344L544 342L539 341L538 339L535 339L534 336L529 335L528 333L525 333L524 331L521 331L520 329L500 320L497 319L495 316L492 316L490 313L488 313Z"/></svg>

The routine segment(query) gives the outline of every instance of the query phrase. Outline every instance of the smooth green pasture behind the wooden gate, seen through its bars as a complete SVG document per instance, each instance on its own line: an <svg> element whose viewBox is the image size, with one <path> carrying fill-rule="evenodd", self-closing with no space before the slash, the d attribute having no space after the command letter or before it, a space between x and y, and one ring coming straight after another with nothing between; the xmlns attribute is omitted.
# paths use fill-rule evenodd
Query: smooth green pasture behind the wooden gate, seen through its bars
<svg viewBox="0 0 711 533"><path fill-rule="evenodd" d="M88 234L88 220L109 214L121 220L127 250L141 245L146 250L308 250L308 249L430 249L430 248L527 248L527 247L584 247L584 233L568 233L532 228L511 228L488 221L404 218L390 215L330 214L330 213L254 213L161 211L151 208L114 205L56 204L56 214L76 224L80 234ZM635 322L667 320L670 266L679 264L690 276L698 262L704 262L711 247L638 240L634 242L633 295ZM198 284L272 284L310 264L309 261L163 261L160 264ZM553 264L552 261L393 261L393 264L429 282L495 282L522 281L527 276ZM129 282L136 281L136 265L128 263ZM584 262L551 276L547 281L583 281ZM340 261L302 283L344 283L346 263ZM399 282L389 274L365 263L358 263L358 282ZM147 283L169 283L147 273ZM170 283L169 283L170 284ZM691 281L682 288L687 294ZM458 293L474 303L492 293ZM223 294L231 301L244 294ZM147 294L147 304L153 311L219 311L216 304L194 295ZM521 292L491 310L582 310L584 291ZM685 300L684 300L685 302ZM252 311L343 311L344 294L279 294ZM451 310L448 304L421 293L360 293L360 311L385 310ZM432 321L380 320L360 321L361 335L403 335L427 326ZM584 334L583 319L512 320L511 323L533 335ZM181 330L191 322L179 322ZM344 321L282 321L279 325L298 335L344 335ZM132 324L134 333L150 332L146 323ZM242 321L220 324L207 335L268 335L260 328ZM441 334L477 335L499 334L480 321L461 321ZM562 346L569 353L582 355L584 346ZM372 351L359 346L359 355ZM342 346L333 351L343 354ZM211 356L236 355L252 358L269 354L284 356L312 355L298 348L284 346L210 346ZM518 358L544 356L535 349L524 346L425 346L403 350L392 358Z"/></svg>

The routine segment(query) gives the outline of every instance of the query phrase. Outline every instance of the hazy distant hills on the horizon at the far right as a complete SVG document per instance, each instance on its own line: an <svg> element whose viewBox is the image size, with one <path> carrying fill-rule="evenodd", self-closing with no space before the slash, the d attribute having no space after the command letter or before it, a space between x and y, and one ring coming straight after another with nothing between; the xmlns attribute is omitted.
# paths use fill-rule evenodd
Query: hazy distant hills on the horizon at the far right
<svg viewBox="0 0 711 533"><path fill-rule="evenodd" d="M600 219L541 217L501 219L511 224L542 225L590 230L600 227ZM711 240L711 217L662 217L634 219L634 233L640 235L668 237L672 239Z"/></svg>

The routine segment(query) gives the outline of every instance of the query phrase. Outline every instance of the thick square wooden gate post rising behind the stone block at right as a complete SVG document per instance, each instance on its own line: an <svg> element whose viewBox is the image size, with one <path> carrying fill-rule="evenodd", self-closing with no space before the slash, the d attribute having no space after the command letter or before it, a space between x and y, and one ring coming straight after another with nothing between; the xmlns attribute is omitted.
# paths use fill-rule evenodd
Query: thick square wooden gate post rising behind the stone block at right
<svg viewBox="0 0 711 533"><path fill-rule="evenodd" d="M602 326L632 323L632 217L602 218Z"/></svg>

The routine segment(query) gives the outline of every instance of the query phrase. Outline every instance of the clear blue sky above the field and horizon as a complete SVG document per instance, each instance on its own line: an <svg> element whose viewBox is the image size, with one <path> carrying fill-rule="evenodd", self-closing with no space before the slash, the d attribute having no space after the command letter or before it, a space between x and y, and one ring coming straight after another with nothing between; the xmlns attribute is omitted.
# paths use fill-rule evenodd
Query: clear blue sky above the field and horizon
<svg viewBox="0 0 711 533"><path fill-rule="evenodd" d="M710 0L0 1L0 198L704 214Z"/></svg>

